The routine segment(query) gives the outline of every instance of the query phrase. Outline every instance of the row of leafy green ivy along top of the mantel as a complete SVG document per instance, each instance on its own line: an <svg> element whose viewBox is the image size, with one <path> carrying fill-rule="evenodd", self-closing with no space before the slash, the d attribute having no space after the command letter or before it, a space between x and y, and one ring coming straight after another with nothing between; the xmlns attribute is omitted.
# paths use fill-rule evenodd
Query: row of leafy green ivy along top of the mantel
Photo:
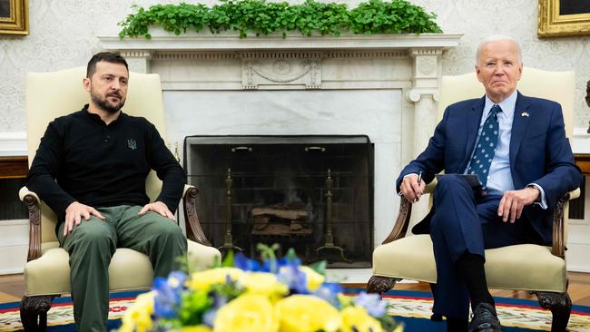
<svg viewBox="0 0 590 332"><path fill-rule="evenodd" d="M287 2L267 3L265 0L221 0L209 8L200 4L152 5L149 9L133 5L136 14L127 15L119 23L123 27L120 38L143 35L150 39L151 25L161 25L170 33L179 35L188 30L200 32L209 28L212 34L232 30L257 36L299 30L310 36L314 31L321 35L353 34L425 34L442 33L434 22L437 17L422 7L406 0L369 0L356 8L346 4L320 3L306 0L302 5Z"/></svg>

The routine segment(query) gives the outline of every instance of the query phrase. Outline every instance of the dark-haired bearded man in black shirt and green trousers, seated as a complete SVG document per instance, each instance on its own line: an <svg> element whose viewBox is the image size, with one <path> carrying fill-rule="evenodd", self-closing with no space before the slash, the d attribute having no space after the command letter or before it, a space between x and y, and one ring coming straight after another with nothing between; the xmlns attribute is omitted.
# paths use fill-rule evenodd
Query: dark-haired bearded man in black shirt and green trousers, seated
<svg viewBox="0 0 590 332"><path fill-rule="evenodd" d="M108 268L115 249L145 253L165 277L185 257L173 222L185 174L152 123L121 111L129 71L118 54L94 54L81 111L50 122L27 176L27 188L54 210L57 236L70 254L74 319L80 331L105 331ZM56 98L67 98L61 96ZM149 203L145 178L155 170L162 191Z"/></svg>

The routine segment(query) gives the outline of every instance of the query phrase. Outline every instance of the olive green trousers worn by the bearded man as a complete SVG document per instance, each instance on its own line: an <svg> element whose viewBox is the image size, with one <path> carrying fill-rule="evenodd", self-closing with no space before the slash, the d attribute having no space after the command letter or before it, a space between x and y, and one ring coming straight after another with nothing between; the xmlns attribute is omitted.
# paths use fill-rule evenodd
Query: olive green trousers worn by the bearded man
<svg viewBox="0 0 590 332"><path fill-rule="evenodd" d="M177 258L186 258L187 243L174 220L149 211L137 213L140 206L122 205L96 209L106 220L91 216L63 236L61 246L70 254L70 283L74 320L78 331L106 331L109 313L109 264L117 248L130 248L146 254L155 277L167 277L180 267Z"/></svg>

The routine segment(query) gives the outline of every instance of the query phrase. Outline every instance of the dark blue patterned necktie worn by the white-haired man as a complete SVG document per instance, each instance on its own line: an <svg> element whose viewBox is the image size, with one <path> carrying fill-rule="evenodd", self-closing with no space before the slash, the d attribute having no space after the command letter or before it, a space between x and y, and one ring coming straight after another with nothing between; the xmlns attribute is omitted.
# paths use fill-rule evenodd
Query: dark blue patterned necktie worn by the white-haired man
<svg viewBox="0 0 590 332"><path fill-rule="evenodd" d="M473 158L471 158L469 169L467 170L467 174L477 174L479 176L482 189L486 189L489 166L492 164L497 147L497 133L499 128L497 112L502 112L502 109L496 104L487 115L484 128L482 128L479 139L477 140L476 151L473 153Z"/></svg>

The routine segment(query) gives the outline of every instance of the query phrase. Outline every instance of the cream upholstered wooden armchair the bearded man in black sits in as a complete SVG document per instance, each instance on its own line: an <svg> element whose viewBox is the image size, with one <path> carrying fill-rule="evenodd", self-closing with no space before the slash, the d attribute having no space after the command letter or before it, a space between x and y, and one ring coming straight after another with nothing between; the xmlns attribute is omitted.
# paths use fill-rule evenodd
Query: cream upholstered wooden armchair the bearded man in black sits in
<svg viewBox="0 0 590 332"><path fill-rule="evenodd" d="M26 119L29 164L39 146L47 124L54 118L80 110L89 103L82 82L84 67L54 73L28 73L26 77ZM129 93L123 112L143 116L165 137L162 88L157 74L130 73ZM162 188L155 172L146 179L148 196L153 200ZM202 232L195 210L198 190L185 186L183 210L188 235L188 259L192 269L211 267L219 259L219 250ZM53 298L70 292L68 253L59 248L55 236L54 212L24 187L19 192L29 210L29 251L25 265L25 297L20 306L21 321L26 331L44 330L47 310ZM133 249L117 249L109 266L109 288L112 291L150 288L152 264L146 255Z"/></svg>

